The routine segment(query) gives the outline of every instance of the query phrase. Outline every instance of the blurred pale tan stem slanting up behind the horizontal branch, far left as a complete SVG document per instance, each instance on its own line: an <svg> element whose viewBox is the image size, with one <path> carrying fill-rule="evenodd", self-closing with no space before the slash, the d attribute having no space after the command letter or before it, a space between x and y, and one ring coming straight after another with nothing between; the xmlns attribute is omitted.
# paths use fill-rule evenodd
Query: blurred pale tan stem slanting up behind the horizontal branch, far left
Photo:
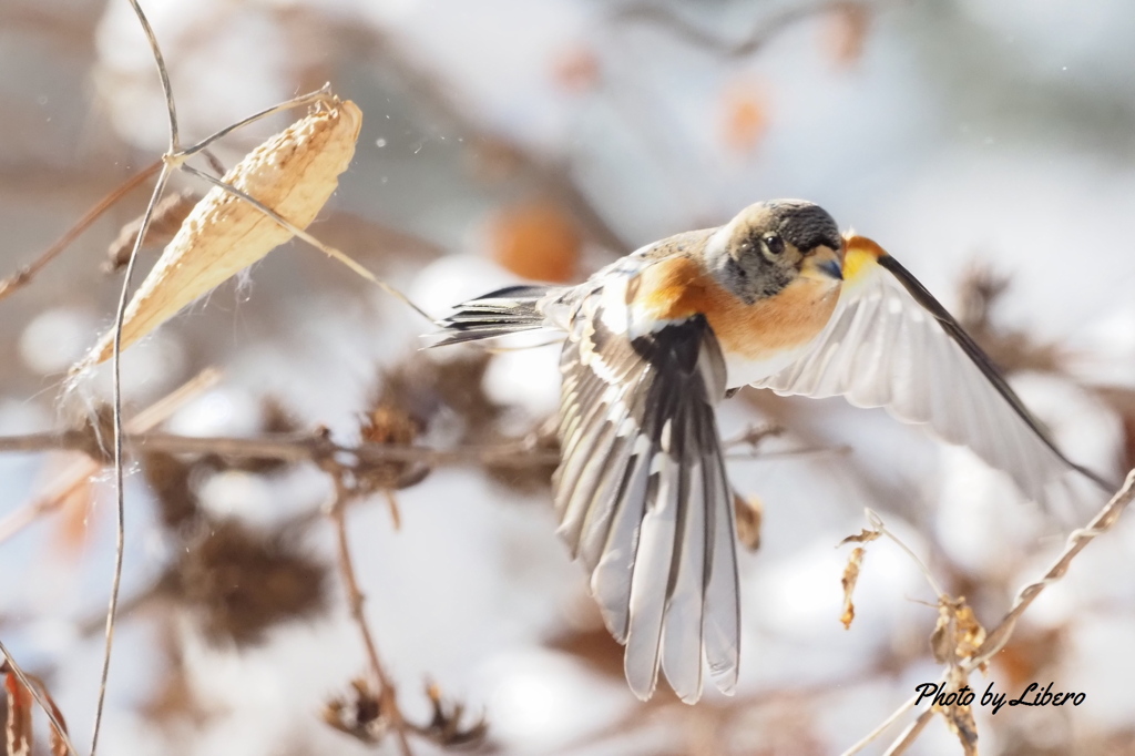
<svg viewBox="0 0 1135 756"><path fill-rule="evenodd" d="M131 418L126 422L127 438L157 428L187 401L212 387L219 380L219 370L215 368L202 370L170 394L167 394L148 409ZM87 439L91 440L90 436L87 436ZM100 468L101 461L87 457L64 470L44 495L32 499L26 505L0 520L0 544L3 544L44 514L57 510L91 476L96 474Z"/></svg>

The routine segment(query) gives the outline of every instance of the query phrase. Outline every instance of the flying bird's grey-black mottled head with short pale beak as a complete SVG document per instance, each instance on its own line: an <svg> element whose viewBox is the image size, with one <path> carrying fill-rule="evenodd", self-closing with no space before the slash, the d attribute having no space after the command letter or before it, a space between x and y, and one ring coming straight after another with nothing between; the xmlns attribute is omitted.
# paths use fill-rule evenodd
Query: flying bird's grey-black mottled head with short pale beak
<svg viewBox="0 0 1135 756"><path fill-rule="evenodd" d="M833 289L843 278L839 226L804 200L749 205L714 232L706 257L718 280L749 304L800 278Z"/></svg>

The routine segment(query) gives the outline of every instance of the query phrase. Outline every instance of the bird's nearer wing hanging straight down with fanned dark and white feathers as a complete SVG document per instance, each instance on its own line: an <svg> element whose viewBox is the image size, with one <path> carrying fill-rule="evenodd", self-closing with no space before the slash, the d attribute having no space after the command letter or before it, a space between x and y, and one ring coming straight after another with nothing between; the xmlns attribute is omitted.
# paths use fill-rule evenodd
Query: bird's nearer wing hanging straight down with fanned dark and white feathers
<svg viewBox="0 0 1135 756"><path fill-rule="evenodd" d="M639 698L654 692L659 662L682 700L701 695L704 662L731 691L740 611L717 341L700 314L632 336L616 286L579 308L561 359L560 532L627 646Z"/></svg>

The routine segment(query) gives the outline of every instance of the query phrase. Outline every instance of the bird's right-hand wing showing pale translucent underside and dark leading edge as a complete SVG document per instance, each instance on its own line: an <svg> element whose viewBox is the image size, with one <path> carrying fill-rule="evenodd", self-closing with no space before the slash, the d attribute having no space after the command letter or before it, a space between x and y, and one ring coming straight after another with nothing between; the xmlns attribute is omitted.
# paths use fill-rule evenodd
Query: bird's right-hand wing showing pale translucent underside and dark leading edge
<svg viewBox="0 0 1135 756"><path fill-rule="evenodd" d="M843 395L927 423L1045 506L1066 503L1071 470L1108 487L1057 448L989 356L882 247L849 236L843 277L839 305L813 348L755 385L784 395Z"/></svg>

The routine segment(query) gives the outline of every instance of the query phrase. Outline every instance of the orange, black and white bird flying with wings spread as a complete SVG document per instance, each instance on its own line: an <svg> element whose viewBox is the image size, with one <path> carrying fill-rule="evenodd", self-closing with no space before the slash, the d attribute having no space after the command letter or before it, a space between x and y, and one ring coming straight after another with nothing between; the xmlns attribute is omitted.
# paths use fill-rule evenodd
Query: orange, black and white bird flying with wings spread
<svg viewBox="0 0 1135 756"><path fill-rule="evenodd" d="M519 285L456 305L434 346L564 335L558 532L590 574L641 699L659 669L686 703L738 681L733 494L715 409L743 386L842 395L968 446L1029 498L1071 462L938 300L874 241L804 200L642 246L574 286Z"/></svg>

